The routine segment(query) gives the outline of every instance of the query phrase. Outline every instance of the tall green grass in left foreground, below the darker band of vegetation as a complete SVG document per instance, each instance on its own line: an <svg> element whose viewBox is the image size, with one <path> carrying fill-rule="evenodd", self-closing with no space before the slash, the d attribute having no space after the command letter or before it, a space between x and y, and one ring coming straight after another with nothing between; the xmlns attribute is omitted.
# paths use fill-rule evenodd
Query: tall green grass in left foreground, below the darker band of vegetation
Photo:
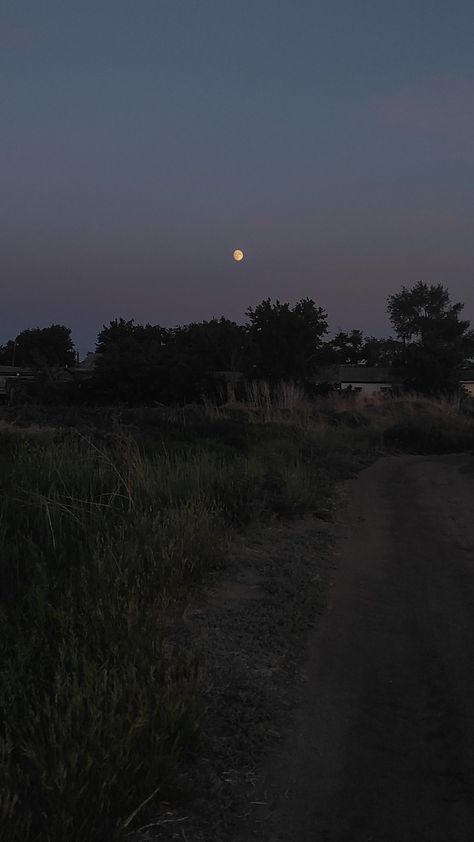
<svg viewBox="0 0 474 842"><path fill-rule="evenodd" d="M200 716L170 605L222 564L229 528L317 503L301 443L281 441L4 435L2 840L112 840L159 797Z"/></svg>

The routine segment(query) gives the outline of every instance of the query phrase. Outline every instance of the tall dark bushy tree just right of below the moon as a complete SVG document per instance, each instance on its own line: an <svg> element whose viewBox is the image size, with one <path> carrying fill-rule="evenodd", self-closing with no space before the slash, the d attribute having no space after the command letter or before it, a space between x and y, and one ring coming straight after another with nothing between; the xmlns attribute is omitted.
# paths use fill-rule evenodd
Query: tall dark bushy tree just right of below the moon
<svg viewBox="0 0 474 842"><path fill-rule="evenodd" d="M327 313L310 298L292 308L270 298L249 307L247 374L272 381L310 378L318 364Z"/></svg>

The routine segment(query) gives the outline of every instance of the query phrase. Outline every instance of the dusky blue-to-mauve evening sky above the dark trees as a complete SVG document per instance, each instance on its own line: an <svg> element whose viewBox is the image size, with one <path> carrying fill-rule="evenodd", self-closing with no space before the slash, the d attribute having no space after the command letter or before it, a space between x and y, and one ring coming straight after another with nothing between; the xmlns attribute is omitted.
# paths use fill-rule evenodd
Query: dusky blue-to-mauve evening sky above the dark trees
<svg viewBox="0 0 474 842"><path fill-rule="evenodd" d="M0 0L0 344L314 299L474 321L472 0ZM241 248L245 259L232 259Z"/></svg>

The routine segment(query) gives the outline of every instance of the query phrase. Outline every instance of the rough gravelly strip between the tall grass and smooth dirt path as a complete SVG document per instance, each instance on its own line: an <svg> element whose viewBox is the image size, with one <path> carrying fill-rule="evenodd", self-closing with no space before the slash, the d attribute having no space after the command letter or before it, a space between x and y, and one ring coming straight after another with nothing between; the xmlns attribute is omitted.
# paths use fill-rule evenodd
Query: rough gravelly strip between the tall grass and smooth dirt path
<svg viewBox="0 0 474 842"><path fill-rule="evenodd" d="M133 842L224 842L253 815L262 757L303 698L305 641L325 605L333 540L316 517L235 538L225 569L173 622L172 639L206 665L200 744L173 784L182 806L150 818Z"/></svg>

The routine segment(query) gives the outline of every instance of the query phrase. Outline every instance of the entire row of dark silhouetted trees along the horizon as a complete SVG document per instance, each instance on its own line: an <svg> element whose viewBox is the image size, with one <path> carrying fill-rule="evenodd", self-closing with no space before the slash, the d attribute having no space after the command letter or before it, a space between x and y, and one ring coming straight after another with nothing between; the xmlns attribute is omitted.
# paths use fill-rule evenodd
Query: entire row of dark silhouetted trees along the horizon
<svg viewBox="0 0 474 842"><path fill-rule="evenodd" d="M174 328L113 319L97 338L90 380L70 384L71 399L126 403L198 401L216 391L216 372L241 372L270 383L293 380L309 391L327 366L390 366L407 389L428 395L457 388L457 370L474 355L474 332L442 284L422 281L389 296L394 336L364 336L359 329L331 339L328 314L312 299L293 306L270 298L246 312L239 325L222 316ZM0 364L28 366L52 381L73 367L71 330L53 324L22 331L0 346Z"/></svg>

